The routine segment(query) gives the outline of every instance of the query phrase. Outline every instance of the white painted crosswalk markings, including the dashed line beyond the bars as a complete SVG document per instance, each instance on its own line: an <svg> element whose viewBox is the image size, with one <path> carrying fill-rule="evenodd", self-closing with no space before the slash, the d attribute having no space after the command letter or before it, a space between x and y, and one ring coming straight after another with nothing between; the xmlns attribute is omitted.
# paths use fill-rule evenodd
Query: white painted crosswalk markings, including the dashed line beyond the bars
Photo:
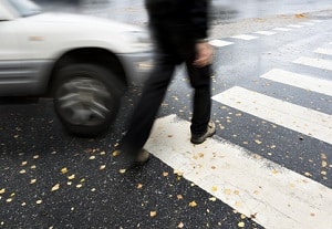
<svg viewBox="0 0 332 229"><path fill-rule="evenodd" d="M234 45L238 40L250 42L259 39L259 35L274 35L320 22L311 20L229 38L234 41L217 39L210 41L210 44L222 48ZM331 45L332 42L329 41L312 50L312 55L300 56L292 60L291 64L330 72ZM284 84L322 96L332 96L332 81L319 75L276 67L259 77L271 84ZM331 113L241 86L220 92L212 100L332 145ZM189 122L176 115L159 118L145 147L207 192L248 217L255 216L251 217L252 220L267 229L332 228L331 188L218 137L194 146L189 143Z"/></svg>

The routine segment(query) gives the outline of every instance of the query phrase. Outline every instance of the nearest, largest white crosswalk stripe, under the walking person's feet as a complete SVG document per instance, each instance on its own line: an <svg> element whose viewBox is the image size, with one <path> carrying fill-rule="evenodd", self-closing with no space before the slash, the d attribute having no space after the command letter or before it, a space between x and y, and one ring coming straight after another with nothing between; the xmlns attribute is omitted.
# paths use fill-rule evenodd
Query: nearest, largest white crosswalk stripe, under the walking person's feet
<svg viewBox="0 0 332 229"><path fill-rule="evenodd" d="M332 228L330 188L226 140L195 146L189 126L175 115L159 118L145 148L267 229Z"/></svg>

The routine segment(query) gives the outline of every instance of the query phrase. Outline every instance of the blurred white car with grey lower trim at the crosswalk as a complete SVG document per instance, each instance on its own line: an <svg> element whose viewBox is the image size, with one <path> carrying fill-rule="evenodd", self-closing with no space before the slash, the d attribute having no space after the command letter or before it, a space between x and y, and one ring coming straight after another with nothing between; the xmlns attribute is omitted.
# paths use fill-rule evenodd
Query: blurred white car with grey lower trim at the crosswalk
<svg viewBox="0 0 332 229"><path fill-rule="evenodd" d="M52 96L74 134L107 129L122 92L146 79L152 49L144 28L0 1L0 96Z"/></svg>

